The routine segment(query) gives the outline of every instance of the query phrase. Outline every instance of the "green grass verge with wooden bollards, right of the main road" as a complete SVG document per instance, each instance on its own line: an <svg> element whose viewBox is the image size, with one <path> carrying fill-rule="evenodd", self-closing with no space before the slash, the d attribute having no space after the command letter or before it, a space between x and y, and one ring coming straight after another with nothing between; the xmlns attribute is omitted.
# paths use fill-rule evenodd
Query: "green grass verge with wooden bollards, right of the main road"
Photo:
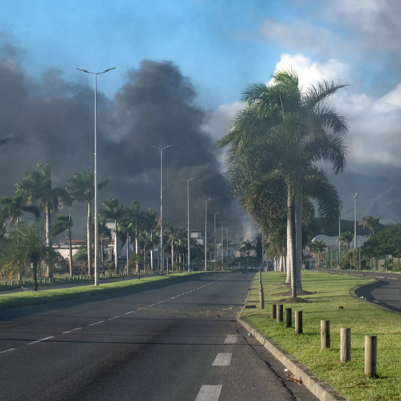
<svg viewBox="0 0 401 401"><path fill-rule="evenodd" d="M303 290L317 294L300 298L312 302L284 304L294 311L303 311L304 334L270 319L270 305L279 304L288 296L273 296L288 291L285 273L262 273L265 309L259 309L259 274L255 276L243 318L259 328L312 371L351 401L395 400L401 394L401 316L377 308L350 296L350 289L373 282L356 276L302 271ZM279 302L282 301L282 302ZM343 306L343 310L338 307ZM331 348L320 349L320 320L330 320ZM340 328L351 328L351 360L340 363ZM378 378L364 375L365 335L377 335Z"/></svg>

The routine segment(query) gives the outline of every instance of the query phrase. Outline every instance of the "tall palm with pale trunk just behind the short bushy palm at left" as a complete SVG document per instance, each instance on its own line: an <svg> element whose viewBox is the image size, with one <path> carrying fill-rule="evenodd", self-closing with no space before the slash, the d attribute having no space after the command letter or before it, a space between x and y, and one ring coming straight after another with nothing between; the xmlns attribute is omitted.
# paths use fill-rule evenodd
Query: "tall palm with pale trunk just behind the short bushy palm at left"
<svg viewBox="0 0 401 401"><path fill-rule="evenodd" d="M49 163L45 163L44 166L38 163L36 166L39 171L27 171L25 178L18 181L16 185L24 191L24 197L26 197L29 205L36 204L39 209L46 213L46 245L51 247L51 212L57 212L59 206L71 206L72 200L61 186L52 188ZM47 265L46 277L53 277L53 270L49 264Z"/></svg>

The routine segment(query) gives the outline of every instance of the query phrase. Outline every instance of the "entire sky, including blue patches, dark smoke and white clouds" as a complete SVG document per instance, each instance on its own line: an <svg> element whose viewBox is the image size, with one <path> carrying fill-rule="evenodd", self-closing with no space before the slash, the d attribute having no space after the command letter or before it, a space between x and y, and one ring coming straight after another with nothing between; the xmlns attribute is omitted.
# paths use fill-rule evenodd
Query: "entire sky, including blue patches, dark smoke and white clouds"
<svg viewBox="0 0 401 401"><path fill-rule="evenodd" d="M116 67L98 77L99 179L111 178L101 196L158 207L160 158L149 145L173 144L164 153L164 211L181 225L179 178L194 176L194 228L203 227L200 196L238 223L224 157L212 145L227 132L243 87L268 82L275 69L294 68L304 86L349 83L331 100L350 121L347 173L398 179L400 17L397 0L2 4L0 130L18 142L0 148L0 195L36 162L51 163L56 184L93 166L93 77L76 67ZM354 190L346 187L351 210ZM359 192L368 199L375 187Z"/></svg>

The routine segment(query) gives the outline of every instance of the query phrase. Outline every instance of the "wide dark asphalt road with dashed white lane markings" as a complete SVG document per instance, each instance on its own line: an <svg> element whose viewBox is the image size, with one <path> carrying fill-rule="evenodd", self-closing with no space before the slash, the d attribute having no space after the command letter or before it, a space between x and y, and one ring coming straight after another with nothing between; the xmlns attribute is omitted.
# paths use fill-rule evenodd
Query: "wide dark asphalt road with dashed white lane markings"
<svg viewBox="0 0 401 401"><path fill-rule="evenodd" d="M199 274L0 312L0 399L294 400L236 322L252 279Z"/></svg>

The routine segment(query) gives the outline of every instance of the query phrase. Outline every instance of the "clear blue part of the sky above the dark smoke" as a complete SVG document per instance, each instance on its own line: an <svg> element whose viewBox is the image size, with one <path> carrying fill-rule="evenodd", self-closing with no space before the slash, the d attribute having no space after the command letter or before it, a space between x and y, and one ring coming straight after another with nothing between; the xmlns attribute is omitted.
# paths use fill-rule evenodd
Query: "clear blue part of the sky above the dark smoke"
<svg viewBox="0 0 401 401"><path fill-rule="evenodd" d="M24 68L40 75L56 67L101 71L99 89L111 96L128 68L144 58L176 63L204 107L237 100L243 86L266 81L286 47L259 33L265 18L289 22L307 8L286 1L17 1L4 2L0 26L25 51ZM301 12L302 11L302 12Z"/></svg>

